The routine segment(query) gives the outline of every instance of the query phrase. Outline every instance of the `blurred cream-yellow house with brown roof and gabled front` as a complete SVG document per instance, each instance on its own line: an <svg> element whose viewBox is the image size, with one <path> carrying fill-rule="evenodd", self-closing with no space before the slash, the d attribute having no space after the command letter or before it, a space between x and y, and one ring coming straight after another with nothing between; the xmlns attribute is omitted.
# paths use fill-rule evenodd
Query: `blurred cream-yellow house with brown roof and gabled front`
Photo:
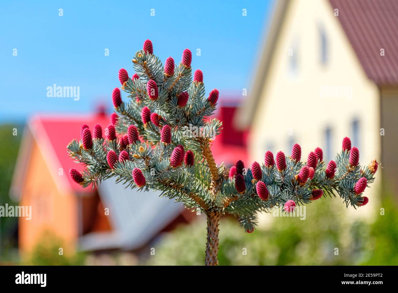
<svg viewBox="0 0 398 293"><path fill-rule="evenodd" d="M377 205L381 173L397 190L397 15L394 0L278 1L235 120L250 127L251 161L298 143L304 161L320 146L327 164L349 136L361 164L384 168L361 210Z"/></svg>

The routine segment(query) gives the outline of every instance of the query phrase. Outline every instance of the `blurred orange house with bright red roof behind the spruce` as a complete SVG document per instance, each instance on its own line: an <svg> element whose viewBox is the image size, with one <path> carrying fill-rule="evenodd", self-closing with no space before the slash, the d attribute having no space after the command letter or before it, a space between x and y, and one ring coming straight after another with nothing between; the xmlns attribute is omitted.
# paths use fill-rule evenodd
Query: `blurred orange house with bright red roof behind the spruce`
<svg viewBox="0 0 398 293"><path fill-rule="evenodd" d="M243 132L236 131L231 121L235 109L236 103L230 102L219 108L218 117L226 120L224 134L212 147L217 163L226 155L246 155ZM180 203L158 198L160 192L125 189L125 185L115 184L114 178L95 189L74 183L69 169L82 171L83 166L70 159L66 146L80 137L83 124L93 129L97 123L104 130L109 119L104 113L61 114L37 115L27 122L10 190L20 205L32 206L31 220L19 218L22 253L43 241L46 232L62 239L69 251L137 250L161 232L195 217ZM228 139L231 133L233 140ZM232 161L226 163L232 165Z"/></svg>

